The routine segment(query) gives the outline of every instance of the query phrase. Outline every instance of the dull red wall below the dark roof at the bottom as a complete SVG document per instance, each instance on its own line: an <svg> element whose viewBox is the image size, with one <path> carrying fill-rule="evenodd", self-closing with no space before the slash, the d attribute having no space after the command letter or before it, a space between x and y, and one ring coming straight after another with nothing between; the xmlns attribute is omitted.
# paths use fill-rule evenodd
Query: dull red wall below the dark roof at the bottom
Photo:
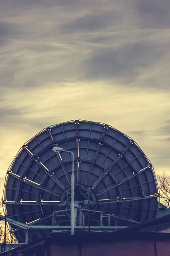
<svg viewBox="0 0 170 256"><path fill-rule="evenodd" d="M78 246L51 246L51 256L166 256L170 242L120 241Z"/></svg>

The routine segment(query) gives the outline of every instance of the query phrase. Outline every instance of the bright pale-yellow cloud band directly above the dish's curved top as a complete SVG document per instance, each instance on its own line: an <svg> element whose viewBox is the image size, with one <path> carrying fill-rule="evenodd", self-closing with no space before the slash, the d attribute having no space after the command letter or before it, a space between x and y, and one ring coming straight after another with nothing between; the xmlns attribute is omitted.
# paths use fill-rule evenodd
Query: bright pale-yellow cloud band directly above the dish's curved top
<svg viewBox="0 0 170 256"><path fill-rule="evenodd" d="M157 129L164 124L170 108L168 98L160 90L129 89L116 84L111 87L103 82L68 83L63 87L46 84L41 90L38 87L26 91L13 89L3 102L3 108L8 111L1 113L6 118L1 125L0 173L5 172L18 149L40 130L71 119L113 125L139 144L156 169L167 166L170 149L168 144L164 146L162 132ZM4 154L6 145L11 144L13 150Z"/></svg>

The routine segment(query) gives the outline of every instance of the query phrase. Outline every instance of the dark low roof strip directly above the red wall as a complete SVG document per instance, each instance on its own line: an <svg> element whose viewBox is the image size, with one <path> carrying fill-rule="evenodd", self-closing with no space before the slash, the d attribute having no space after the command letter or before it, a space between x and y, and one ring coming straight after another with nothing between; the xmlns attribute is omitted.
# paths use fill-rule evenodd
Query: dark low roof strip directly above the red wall
<svg viewBox="0 0 170 256"><path fill-rule="evenodd" d="M147 241L170 241L169 233L145 233L145 232L130 232L128 233L118 233L117 231L113 233L90 233L87 235L79 234L74 236L57 235L52 237L46 237L38 239L29 244L24 244L20 247L10 250L10 253L19 253L26 251L34 247L48 247L50 244L59 245L81 245L81 244L95 244L95 243L105 243L114 241L128 241L128 240L147 240ZM11 255L9 251L0 253L3 255Z"/></svg>

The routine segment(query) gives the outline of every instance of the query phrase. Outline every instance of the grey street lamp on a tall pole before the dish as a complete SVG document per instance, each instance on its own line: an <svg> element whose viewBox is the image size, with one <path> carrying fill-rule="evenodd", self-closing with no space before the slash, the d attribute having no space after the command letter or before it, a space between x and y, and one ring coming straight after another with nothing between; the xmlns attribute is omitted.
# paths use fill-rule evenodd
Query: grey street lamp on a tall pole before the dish
<svg viewBox="0 0 170 256"><path fill-rule="evenodd" d="M74 153L72 151L64 150L63 148L59 147L54 147L53 151L56 153L64 151L72 154L73 163L71 175L71 235L74 235Z"/></svg>

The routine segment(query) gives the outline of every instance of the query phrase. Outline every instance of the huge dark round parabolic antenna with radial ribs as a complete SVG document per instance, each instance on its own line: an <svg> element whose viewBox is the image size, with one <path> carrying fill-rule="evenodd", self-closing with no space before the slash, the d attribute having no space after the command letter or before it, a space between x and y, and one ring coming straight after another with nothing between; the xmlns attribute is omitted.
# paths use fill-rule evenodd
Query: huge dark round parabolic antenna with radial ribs
<svg viewBox="0 0 170 256"><path fill-rule="evenodd" d="M75 231L107 231L156 218L153 166L139 146L110 125L72 120L52 125L26 142L6 174L8 218L70 232L72 158L75 154ZM11 224L18 241L22 228ZM31 230L32 240L51 230Z"/></svg>

